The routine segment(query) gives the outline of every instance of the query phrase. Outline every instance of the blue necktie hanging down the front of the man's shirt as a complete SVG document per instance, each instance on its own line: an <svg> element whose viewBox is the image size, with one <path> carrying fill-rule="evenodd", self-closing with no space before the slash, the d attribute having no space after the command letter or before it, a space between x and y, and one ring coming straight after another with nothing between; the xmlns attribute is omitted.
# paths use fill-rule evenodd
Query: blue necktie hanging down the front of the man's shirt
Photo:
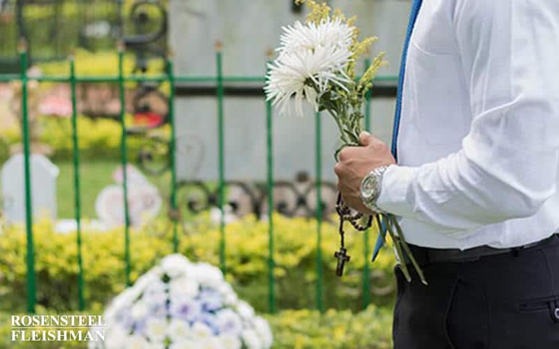
<svg viewBox="0 0 559 349"><path fill-rule="evenodd" d="M392 130L392 155L398 161L398 149L396 148L396 143L398 141L398 131L400 128L400 116L402 114L402 92L404 89L404 75L406 72L406 61L407 61L407 49L409 48L409 40L412 38L412 33L414 31L415 22L417 20L417 15L419 15L419 9L423 0L414 0L412 3L412 12L409 14L409 24L407 25L406 40L404 42L404 50L402 52L402 63L400 64L400 77L398 79L398 94L396 95L396 112L394 115L394 126ZM377 238L377 244L375 245L375 251L372 253L372 261L375 262L380 249L384 246L384 238L386 237L386 225L382 221L380 227L380 234Z"/></svg>

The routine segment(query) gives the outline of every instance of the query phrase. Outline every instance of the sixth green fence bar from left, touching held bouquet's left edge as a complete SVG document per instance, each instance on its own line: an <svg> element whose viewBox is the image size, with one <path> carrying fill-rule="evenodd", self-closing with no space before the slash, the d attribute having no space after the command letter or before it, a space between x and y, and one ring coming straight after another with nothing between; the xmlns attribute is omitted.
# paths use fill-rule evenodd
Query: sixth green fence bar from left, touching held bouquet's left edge
<svg viewBox="0 0 559 349"><path fill-rule="evenodd" d="M273 52L268 52L268 65ZM266 70L269 71L267 65ZM267 75L267 74L266 74ZM275 313L274 278L274 159L272 101L266 101L266 159L268 165L268 311Z"/></svg>

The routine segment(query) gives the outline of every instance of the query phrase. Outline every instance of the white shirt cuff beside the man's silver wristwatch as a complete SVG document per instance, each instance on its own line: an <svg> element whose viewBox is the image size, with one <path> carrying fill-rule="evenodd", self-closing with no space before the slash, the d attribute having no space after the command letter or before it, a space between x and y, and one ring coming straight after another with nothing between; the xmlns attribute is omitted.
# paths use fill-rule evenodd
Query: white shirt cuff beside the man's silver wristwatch
<svg viewBox="0 0 559 349"><path fill-rule="evenodd" d="M407 193L419 168L390 165L382 176L382 186L377 206L397 216L413 214L413 203L407 201Z"/></svg>

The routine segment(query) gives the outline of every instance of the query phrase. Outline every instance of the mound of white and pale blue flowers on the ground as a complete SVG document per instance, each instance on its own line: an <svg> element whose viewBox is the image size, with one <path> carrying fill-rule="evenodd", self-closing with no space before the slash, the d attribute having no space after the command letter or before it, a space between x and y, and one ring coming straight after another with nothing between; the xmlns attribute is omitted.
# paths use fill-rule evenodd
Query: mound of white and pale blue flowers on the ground
<svg viewBox="0 0 559 349"><path fill-rule="evenodd" d="M106 309L105 341L91 349L261 349L268 322L237 298L219 269L168 255Z"/></svg>

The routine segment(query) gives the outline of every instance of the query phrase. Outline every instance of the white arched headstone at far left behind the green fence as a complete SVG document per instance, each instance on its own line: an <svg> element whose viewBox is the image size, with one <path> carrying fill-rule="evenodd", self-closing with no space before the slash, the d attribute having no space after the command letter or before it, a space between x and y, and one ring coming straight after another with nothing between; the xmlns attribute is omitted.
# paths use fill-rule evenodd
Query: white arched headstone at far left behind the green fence
<svg viewBox="0 0 559 349"><path fill-rule="evenodd" d="M40 154L31 155L31 202L35 217L57 218L59 169ZM10 222L25 221L24 158L17 154L2 166L3 213Z"/></svg>

